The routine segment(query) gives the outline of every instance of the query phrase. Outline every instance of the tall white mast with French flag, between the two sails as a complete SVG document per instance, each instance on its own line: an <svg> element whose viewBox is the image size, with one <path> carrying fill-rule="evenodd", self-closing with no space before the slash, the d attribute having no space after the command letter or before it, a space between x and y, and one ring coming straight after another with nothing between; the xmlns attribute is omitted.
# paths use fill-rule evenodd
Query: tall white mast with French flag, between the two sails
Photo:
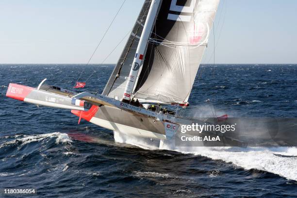
<svg viewBox="0 0 297 198"><path fill-rule="evenodd" d="M128 76L128 82L126 84L126 88L123 94L123 99L130 100L132 91L134 88L134 84L136 82L136 78L139 72L140 64L141 61L144 57L144 53L147 47L148 39L151 33L151 29L154 25L154 20L157 15L158 7L160 4L160 0L152 0L149 11L148 11L148 16L146 23L144 25L142 34L140 36L140 40L136 49L136 53L134 56L133 64L130 70L130 74Z"/></svg>

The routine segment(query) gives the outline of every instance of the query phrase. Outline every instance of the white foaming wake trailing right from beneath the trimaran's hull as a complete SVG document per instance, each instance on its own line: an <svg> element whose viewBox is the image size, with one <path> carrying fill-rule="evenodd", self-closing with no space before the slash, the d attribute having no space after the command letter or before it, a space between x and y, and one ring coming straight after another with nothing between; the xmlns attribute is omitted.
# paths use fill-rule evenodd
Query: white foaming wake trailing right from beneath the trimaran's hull
<svg viewBox="0 0 297 198"><path fill-rule="evenodd" d="M296 147L175 147L175 140L165 140L162 147L159 148L159 141L151 141L119 132L114 132L114 137L118 143L132 144L144 149L166 149L181 153L193 153L213 160L223 160L245 169L263 170L288 180L297 181Z"/></svg>

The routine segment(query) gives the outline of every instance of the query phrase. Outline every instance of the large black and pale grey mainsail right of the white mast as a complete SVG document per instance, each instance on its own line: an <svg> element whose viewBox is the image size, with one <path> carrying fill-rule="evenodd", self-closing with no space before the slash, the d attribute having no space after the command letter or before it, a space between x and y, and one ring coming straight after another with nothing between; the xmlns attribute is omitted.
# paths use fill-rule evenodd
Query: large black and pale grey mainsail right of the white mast
<svg viewBox="0 0 297 198"><path fill-rule="evenodd" d="M135 98L184 103L198 71L219 0L163 0L152 30Z"/></svg>

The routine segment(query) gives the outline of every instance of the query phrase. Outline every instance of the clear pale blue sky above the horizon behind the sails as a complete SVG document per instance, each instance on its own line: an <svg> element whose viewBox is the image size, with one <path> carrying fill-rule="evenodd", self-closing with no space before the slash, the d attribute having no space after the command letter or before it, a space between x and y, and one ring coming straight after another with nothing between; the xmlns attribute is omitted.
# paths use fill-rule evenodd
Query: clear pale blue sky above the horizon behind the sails
<svg viewBox="0 0 297 198"><path fill-rule="evenodd" d="M87 63L123 0L0 0L0 63ZM128 33L126 0L91 63ZM297 0L221 0L203 63L297 63ZM125 42L105 63L116 63Z"/></svg>

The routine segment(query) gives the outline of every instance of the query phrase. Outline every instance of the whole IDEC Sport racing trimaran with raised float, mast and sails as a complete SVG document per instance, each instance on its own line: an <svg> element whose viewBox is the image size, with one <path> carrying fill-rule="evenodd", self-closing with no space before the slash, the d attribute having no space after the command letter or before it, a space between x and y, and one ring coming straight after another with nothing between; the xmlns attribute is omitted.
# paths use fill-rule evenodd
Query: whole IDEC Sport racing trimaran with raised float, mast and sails
<svg viewBox="0 0 297 198"><path fill-rule="evenodd" d="M145 0L103 93L76 93L10 83L6 96L69 109L101 127L153 139L170 139L193 119L166 114L152 104L188 105L188 98L219 0ZM142 105L131 103L138 99Z"/></svg>

